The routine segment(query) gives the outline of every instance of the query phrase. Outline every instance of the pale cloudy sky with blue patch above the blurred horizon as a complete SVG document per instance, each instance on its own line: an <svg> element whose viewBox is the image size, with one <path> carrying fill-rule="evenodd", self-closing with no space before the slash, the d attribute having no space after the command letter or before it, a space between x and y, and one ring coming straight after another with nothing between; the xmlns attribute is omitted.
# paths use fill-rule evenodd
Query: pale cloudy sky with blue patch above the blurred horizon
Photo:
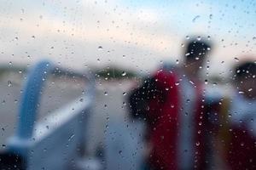
<svg viewBox="0 0 256 170"><path fill-rule="evenodd" d="M209 72L256 59L256 1L0 0L0 63L154 71L182 62L186 37L214 43Z"/></svg>

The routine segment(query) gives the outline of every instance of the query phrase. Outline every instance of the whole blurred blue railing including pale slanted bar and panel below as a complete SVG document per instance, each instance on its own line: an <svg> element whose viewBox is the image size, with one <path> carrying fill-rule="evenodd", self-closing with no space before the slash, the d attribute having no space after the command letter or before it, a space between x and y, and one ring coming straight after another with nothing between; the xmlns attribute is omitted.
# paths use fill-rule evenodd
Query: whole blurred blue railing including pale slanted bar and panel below
<svg viewBox="0 0 256 170"><path fill-rule="evenodd" d="M86 87L84 88L84 93L82 95L84 102L77 102L75 100L61 108L59 111L55 111L53 115L58 117L57 120L53 118L54 116L49 116L49 119L47 119L48 122L35 123L38 115L40 96L44 89L44 82L46 82L47 77L50 74L54 76L65 75L72 78L79 77L85 82L88 82L86 83ZM9 150L23 157L30 157L27 159L32 159L31 162L33 162L38 161L37 156L44 155L41 147L44 146L52 149L59 147L58 150L61 153L61 150L67 151L67 148L65 148L66 144L70 143L71 146L69 147L66 156L68 153L74 156L74 153L77 151L75 150L77 145L84 143L84 131L86 124L84 120L86 117L84 115L89 115L88 112L90 112L90 107L93 103L94 93L95 81L90 74L55 67L49 61L39 62L38 65L35 65L35 67L33 67L28 73L20 102L18 129L15 136L9 140ZM81 97L79 97L79 99L81 99ZM73 108L74 111L70 108ZM49 124L52 125L52 128L45 130L45 125ZM35 131L35 128L37 131ZM37 152L37 156L34 156L34 158L29 156L31 150L33 152ZM49 155L58 156L58 151L54 150ZM40 163L41 162L42 161L40 161ZM61 161L57 165L59 167L49 167L49 169L62 168L62 164L64 163L64 161ZM38 168L36 167L36 164L37 163L34 163L29 169ZM44 164L44 162L42 164ZM52 164L56 163L53 162Z"/></svg>

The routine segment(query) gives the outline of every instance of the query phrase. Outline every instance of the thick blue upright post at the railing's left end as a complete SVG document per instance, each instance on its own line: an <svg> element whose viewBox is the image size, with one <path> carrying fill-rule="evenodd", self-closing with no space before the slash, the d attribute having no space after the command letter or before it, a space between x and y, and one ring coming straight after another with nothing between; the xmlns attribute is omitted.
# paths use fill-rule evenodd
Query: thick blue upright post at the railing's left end
<svg viewBox="0 0 256 170"><path fill-rule="evenodd" d="M38 115L38 103L40 92L44 82L53 66L48 61L42 61L36 65L28 75L25 90L20 103L20 119L17 137L31 139L34 122Z"/></svg>

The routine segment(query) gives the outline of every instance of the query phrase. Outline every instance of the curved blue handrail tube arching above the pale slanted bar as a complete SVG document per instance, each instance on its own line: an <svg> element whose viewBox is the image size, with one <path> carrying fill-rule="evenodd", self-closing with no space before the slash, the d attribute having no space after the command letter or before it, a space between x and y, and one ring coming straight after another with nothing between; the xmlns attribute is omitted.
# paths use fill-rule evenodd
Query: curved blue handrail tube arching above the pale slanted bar
<svg viewBox="0 0 256 170"><path fill-rule="evenodd" d="M24 92L21 97L17 133L9 140L9 150L19 152L23 156L26 156L26 149L32 143L33 129L38 115L38 103L40 102L44 82L46 82L49 74L82 78L82 80L89 82L84 89L84 96L87 99L90 98L90 103L94 97L95 81L94 77L90 74L55 67L55 65L46 60L35 65L28 73Z"/></svg>

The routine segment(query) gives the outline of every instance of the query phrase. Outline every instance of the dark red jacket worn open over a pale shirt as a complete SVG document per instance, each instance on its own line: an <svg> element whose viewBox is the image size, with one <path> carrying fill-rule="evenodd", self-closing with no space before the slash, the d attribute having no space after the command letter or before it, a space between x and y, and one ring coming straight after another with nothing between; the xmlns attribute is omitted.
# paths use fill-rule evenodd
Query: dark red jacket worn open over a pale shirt
<svg viewBox="0 0 256 170"><path fill-rule="evenodd" d="M182 107L181 95L183 93L177 85L179 77L172 71L158 71L153 79L158 93L154 94L154 99L149 100L148 124L151 127L149 140L153 145L150 163L155 169L178 169L177 135L180 122L179 113ZM191 142L195 146L194 168L204 169L207 150L205 144L206 111L201 85L196 84L195 89L195 139ZM163 95L165 96L164 100L162 99Z"/></svg>

